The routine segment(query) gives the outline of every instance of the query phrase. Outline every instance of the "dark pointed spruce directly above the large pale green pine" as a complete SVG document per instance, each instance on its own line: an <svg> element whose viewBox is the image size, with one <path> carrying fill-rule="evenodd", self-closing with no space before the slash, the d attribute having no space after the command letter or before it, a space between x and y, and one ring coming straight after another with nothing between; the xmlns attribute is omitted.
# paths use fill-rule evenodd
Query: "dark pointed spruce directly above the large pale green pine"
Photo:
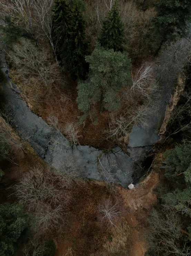
<svg viewBox="0 0 191 256"><path fill-rule="evenodd" d="M105 49L121 52L124 49L124 23L119 14L118 0L114 1L111 10L109 10L107 17L103 21L99 42Z"/></svg>

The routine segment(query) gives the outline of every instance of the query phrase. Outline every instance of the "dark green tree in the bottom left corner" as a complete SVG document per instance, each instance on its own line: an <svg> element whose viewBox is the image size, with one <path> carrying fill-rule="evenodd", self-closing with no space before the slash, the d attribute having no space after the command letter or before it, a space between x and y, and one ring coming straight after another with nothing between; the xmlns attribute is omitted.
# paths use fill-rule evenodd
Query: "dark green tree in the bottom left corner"
<svg viewBox="0 0 191 256"><path fill-rule="evenodd" d="M15 255L19 245L30 238L33 223L22 204L0 205L0 256Z"/></svg>

